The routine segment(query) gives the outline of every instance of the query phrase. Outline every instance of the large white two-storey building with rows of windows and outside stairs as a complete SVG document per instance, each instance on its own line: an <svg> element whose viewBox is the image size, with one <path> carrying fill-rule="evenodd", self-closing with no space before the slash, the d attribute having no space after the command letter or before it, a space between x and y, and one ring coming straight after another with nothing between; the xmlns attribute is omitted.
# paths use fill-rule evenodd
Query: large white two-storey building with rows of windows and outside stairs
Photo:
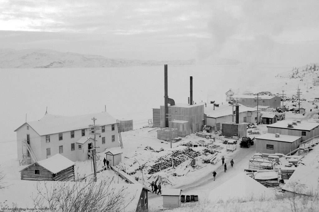
<svg viewBox="0 0 319 212"><path fill-rule="evenodd" d="M106 148L118 147L118 129L115 118L106 112L79 116L45 115L41 120L26 122L18 127L17 149L20 163L31 164L55 154L61 154L71 161L85 161L94 145L92 118L96 130L96 146L98 152Z"/></svg>

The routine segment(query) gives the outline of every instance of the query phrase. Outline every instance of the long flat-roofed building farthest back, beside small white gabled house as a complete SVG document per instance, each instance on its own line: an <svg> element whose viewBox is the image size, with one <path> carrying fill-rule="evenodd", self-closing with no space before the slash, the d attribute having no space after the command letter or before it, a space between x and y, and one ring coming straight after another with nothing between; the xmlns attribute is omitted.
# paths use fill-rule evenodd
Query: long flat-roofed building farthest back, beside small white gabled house
<svg viewBox="0 0 319 212"><path fill-rule="evenodd" d="M280 106L279 96L258 96L258 106L269 106L272 108L277 108ZM240 103L246 107L256 107L257 106L257 96L256 95L234 95L233 102ZM258 108L259 109L259 108Z"/></svg>

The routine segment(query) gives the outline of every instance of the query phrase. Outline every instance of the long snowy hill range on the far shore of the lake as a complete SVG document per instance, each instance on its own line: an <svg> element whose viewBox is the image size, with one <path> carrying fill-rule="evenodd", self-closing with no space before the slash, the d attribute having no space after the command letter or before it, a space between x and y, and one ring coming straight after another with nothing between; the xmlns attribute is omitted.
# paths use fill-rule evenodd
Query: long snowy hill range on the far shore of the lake
<svg viewBox="0 0 319 212"><path fill-rule="evenodd" d="M239 61L221 58L214 61L216 65L238 64ZM195 65L190 60L128 60L122 58L105 58L99 55L83 55L73 52L60 52L48 49L11 50L0 49L0 68L76 68L76 67L125 67L140 65Z"/></svg>

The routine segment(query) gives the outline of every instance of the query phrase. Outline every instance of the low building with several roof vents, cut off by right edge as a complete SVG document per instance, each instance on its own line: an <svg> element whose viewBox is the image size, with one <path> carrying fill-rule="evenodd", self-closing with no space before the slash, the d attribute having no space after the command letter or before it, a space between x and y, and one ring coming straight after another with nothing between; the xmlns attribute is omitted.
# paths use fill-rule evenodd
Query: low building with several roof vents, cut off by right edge
<svg viewBox="0 0 319 212"><path fill-rule="evenodd" d="M301 136L301 141L305 141L319 135L319 123L317 122L282 120L268 125L267 128L268 133Z"/></svg>

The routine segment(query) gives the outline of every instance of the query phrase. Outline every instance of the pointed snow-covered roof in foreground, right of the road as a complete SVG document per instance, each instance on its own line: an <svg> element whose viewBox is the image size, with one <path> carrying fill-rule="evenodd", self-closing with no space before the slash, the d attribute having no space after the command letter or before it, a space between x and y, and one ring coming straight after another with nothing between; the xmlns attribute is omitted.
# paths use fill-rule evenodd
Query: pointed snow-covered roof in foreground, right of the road
<svg viewBox="0 0 319 212"><path fill-rule="evenodd" d="M218 173L217 173L218 176ZM245 173L239 173L233 178L224 182L209 194L209 200L224 202L230 199L250 199L260 197L274 198L275 192L247 176Z"/></svg>

